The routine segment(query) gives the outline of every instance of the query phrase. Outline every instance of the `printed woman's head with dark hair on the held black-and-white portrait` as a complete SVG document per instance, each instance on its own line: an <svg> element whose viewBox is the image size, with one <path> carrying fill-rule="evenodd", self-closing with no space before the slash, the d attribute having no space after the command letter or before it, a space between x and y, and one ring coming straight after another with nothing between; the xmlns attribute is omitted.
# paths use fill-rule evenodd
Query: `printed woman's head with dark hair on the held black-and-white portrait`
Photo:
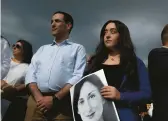
<svg viewBox="0 0 168 121"><path fill-rule="evenodd" d="M76 121L104 121L105 99L100 94L103 86L96 75L88 76L75 85L73 107Z"/></svg>

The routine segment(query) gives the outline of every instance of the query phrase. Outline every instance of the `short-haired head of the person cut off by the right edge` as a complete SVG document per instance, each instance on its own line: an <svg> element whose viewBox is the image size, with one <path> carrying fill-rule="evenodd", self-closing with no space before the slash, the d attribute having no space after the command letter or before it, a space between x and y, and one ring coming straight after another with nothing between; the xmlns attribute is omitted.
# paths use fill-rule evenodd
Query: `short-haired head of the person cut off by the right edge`
<svg viewBox="0 0 168 121"><path fill-rule="evenodd" d="M162 39L162 44L164 45L166 42L168 42L168 24L165 25L165 27L162 30L161 33L161 39Z"/></svg>

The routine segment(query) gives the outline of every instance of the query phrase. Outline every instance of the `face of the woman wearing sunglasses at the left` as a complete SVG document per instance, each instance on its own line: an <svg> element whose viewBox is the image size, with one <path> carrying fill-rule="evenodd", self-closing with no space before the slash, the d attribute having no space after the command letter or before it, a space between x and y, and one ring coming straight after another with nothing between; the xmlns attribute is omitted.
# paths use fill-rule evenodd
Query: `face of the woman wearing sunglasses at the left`
<svg viewBox="0 0 168 121"><path fill-rule="evenodd" d="M17 42L13 46L13 55L14 56L21 56L23 54L23 46L20 42Z"/></svg>

